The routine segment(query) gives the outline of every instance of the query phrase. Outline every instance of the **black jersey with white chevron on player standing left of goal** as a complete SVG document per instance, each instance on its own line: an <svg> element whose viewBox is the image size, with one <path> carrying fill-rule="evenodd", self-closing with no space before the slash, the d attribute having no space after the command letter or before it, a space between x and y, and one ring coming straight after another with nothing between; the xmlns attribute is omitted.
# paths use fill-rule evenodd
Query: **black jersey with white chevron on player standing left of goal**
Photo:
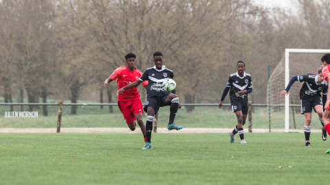
<svg viewBox="0 0 330 185"><path fill-rule="evenodd" d="M230 87L230 101L242 99L244 101L248 101L248 93L240 96L239 91L248 90L248 88L252 88L252 79L251 75L244 72L243 77L239 76L239 73L232 73L228 79L227 86Z"/></svg>

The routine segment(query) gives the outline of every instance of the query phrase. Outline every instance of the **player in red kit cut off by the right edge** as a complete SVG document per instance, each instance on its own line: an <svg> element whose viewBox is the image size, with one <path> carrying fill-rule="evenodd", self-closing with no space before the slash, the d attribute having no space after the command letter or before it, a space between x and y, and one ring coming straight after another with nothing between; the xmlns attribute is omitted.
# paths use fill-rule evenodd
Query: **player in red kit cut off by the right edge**
<svg viewBox="0 0 330 185"><path fill-rule="evenodd" d="M322 56L321 61L323 62L323 65L325 66L322 69L322 75L325 78L327 82L330 82L330 53L326 53L324 56ZM328 91L330 87L328 86ZM325 112L323 113L323 123L325 123L325 130L327 130L328 134L330 135L330 93L327 95L327 102L325 103ZM325 153L330 153L330 149L326 151Z"/></svg>

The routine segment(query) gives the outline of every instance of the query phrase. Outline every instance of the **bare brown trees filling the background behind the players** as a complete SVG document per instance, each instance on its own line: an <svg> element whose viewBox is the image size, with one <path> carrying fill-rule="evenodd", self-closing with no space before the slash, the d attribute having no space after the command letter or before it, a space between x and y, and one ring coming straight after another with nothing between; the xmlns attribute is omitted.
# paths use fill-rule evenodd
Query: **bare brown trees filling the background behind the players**
<svg viewBox="0 0 330 185"><path fill-rule="evenodd" d="M250 0L3 0L2 96L6 103L23 97L30 103L50 97L76 103L84 89L93 88L100 102L105 90L112 103L116 84L102 84L124 65L126 53L137 55L137 69L144 72L153 66L153 52L162 51L182 103L219 103L239 60L252 75L250 99L265 103L267 66L275 69L286 48L330 46L330 2L296 5L291 12Z"/></svg>

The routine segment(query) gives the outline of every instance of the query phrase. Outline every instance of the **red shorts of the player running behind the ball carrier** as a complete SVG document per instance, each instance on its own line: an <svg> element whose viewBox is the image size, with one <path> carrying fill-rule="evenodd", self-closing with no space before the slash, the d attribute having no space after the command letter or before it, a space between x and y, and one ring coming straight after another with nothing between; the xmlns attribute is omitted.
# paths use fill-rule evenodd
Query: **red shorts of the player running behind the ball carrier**
<svg viewBox="0 0 330 185"><path fill-rule="evenodd" d="M135 120L135 114L142 113L143 107L140 99L129 101L118 101L118 108L122 112L126 123L132 123Z"/></svg>

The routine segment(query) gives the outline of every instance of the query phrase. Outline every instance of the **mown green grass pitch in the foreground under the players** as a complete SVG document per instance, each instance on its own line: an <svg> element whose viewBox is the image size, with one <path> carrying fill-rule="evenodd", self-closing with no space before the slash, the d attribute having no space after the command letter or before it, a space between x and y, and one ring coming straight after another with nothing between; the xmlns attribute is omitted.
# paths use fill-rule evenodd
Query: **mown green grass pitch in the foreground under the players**
<svg viewBox="0 0 330 185"><path fill-rule="evenodd" d="M142 150L141 134L0 134L0 184L328 184L320 134L311 147L298 133L245 139L153 134Z"/></svg>

